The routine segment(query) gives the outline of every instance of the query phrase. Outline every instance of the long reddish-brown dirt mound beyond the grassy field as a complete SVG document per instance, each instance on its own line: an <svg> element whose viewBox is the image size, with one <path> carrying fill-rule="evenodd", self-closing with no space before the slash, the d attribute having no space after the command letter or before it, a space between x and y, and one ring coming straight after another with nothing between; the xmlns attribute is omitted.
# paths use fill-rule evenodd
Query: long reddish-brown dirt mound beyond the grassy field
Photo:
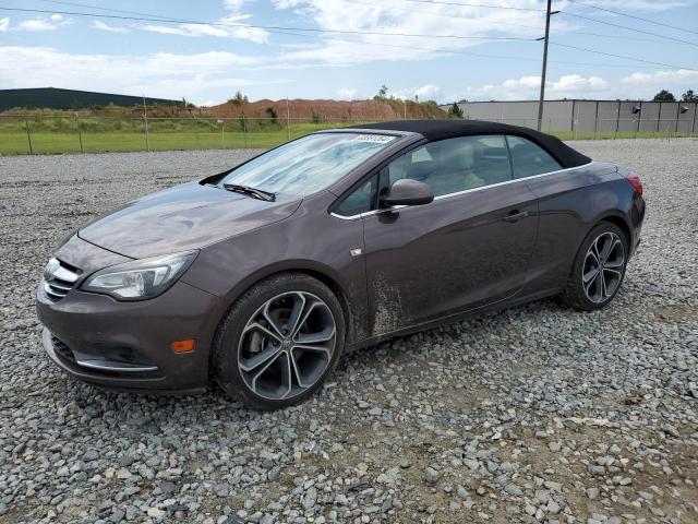
<svg viewBox="0 0 698 524"><path fill-rule="evenodd" d="M444 118L446 114L433 102L408 100L256 100L227 102L206 109L216 117L274 118L284 120L392 120L407 118Z"/></svg>

